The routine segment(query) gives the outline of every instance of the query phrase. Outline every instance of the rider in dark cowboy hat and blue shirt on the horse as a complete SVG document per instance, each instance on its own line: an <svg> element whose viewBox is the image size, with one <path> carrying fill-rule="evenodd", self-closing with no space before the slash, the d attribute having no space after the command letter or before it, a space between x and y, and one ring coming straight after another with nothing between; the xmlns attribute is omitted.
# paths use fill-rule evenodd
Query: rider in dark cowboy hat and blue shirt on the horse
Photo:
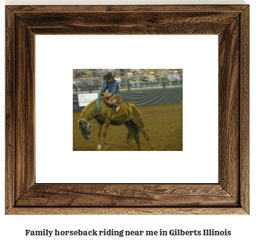
<svg viewBox="0 0 256 242"><path fill-rule="evenodd" d="M108 72L106 75L103 77L104 80L106 80L106 84L102 88L102 90L98 93L101 95L103 92L106 92L108 89L108 94L106 97L112 97L114 94L119 94L119 84L116 79L114 79L113 75L111 72ZM116 112L120 109L118 105L113 107Z"/></svg>

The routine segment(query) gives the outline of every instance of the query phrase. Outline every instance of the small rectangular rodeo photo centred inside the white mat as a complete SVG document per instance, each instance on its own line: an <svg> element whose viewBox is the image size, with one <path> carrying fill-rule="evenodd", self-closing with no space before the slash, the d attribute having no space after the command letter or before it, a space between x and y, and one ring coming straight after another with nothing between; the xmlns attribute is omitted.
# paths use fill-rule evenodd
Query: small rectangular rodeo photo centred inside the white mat
<svg viewBox="0 0 256 242"><path fill-rule="evenodd" d="M73 151L183 150L183 69L73 69Z"/></svg>

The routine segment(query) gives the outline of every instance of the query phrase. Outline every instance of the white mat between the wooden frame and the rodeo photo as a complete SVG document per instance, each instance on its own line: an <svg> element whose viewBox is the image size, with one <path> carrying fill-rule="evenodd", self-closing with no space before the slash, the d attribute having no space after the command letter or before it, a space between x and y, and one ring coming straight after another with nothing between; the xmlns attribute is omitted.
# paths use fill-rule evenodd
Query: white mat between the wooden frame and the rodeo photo
<svg viewBox="0 0 256 242"><path fill-rule="evenodd" d="M73 69L168 66L183 69L183 152L72 151ZM37 183L218 183L218 36L36 36L36 80Z"/></svg>

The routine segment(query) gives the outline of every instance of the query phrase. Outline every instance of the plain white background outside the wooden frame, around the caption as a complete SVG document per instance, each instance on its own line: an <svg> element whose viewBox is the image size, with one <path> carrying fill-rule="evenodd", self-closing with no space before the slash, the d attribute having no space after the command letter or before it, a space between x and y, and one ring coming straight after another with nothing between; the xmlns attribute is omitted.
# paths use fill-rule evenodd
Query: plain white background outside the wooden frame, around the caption
<svg viewBox="0 0 256 242"><path fill-rule="evenodd" d="M94 1L97 3L98 1ZM103 3L101 1L99 3ZM237 3L238 1L214 1L215 3ZM241 3L241 1L239 1ZM6 4L86 4L89 1L6 1ZM113 1L108 3L118 3L118 1ZM127 3L127 2L122 2ZM132 2L129 2L132 3ZM154 3L177 3L177 1L139 1L137 3L144 4L154 4ZM182 2L184 3L184 1ZM202 1L185 1L185 3L195 4L195 3L213 3L212 1L202 2ZM250 72L250 124L256 123L255 121L255 2L247 1L250 4L250 57L251 57L251 72ZM4 56L4 6L1 3L1 57ZM91 237L91 238L79 238L79 237L52 237L52 238L40 238L33 236L24 236L25 229L31 230L103 230L103 229L124 229L124 230L170 230L170 229L183 229L183 230L203 230L203 229L214 229L214 230L224 230L228 229L232 231L231 236L215 236L205 237L205 236L157 236L157 238L145 238L133 236L133 241L254 241L255 235L255 127L251 125L250 127L250 215L249 216L224 216L224 215L144 215L144 216L135 216L135 215L66 215L66 216L54 216L54 215L4 215L4 58L1 58L1 140L0 140L0 149L1 149L1 163L0 163L0 177L1 177L1 200L0 200L0 238L2 241L130 241L131 238L124 237Z"/></svg>

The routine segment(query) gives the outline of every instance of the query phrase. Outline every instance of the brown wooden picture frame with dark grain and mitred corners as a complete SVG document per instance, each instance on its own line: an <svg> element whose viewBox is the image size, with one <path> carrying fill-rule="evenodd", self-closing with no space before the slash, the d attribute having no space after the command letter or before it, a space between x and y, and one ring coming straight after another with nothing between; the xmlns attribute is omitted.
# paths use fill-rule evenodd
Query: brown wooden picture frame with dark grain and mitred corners
<svg viewBox="0 0 256 242"><path fill-rule="evenodd" d="M218 184L36 184L36 34L218 34ZM249 6L6 6L6 214L249 214Z"/></svg>

